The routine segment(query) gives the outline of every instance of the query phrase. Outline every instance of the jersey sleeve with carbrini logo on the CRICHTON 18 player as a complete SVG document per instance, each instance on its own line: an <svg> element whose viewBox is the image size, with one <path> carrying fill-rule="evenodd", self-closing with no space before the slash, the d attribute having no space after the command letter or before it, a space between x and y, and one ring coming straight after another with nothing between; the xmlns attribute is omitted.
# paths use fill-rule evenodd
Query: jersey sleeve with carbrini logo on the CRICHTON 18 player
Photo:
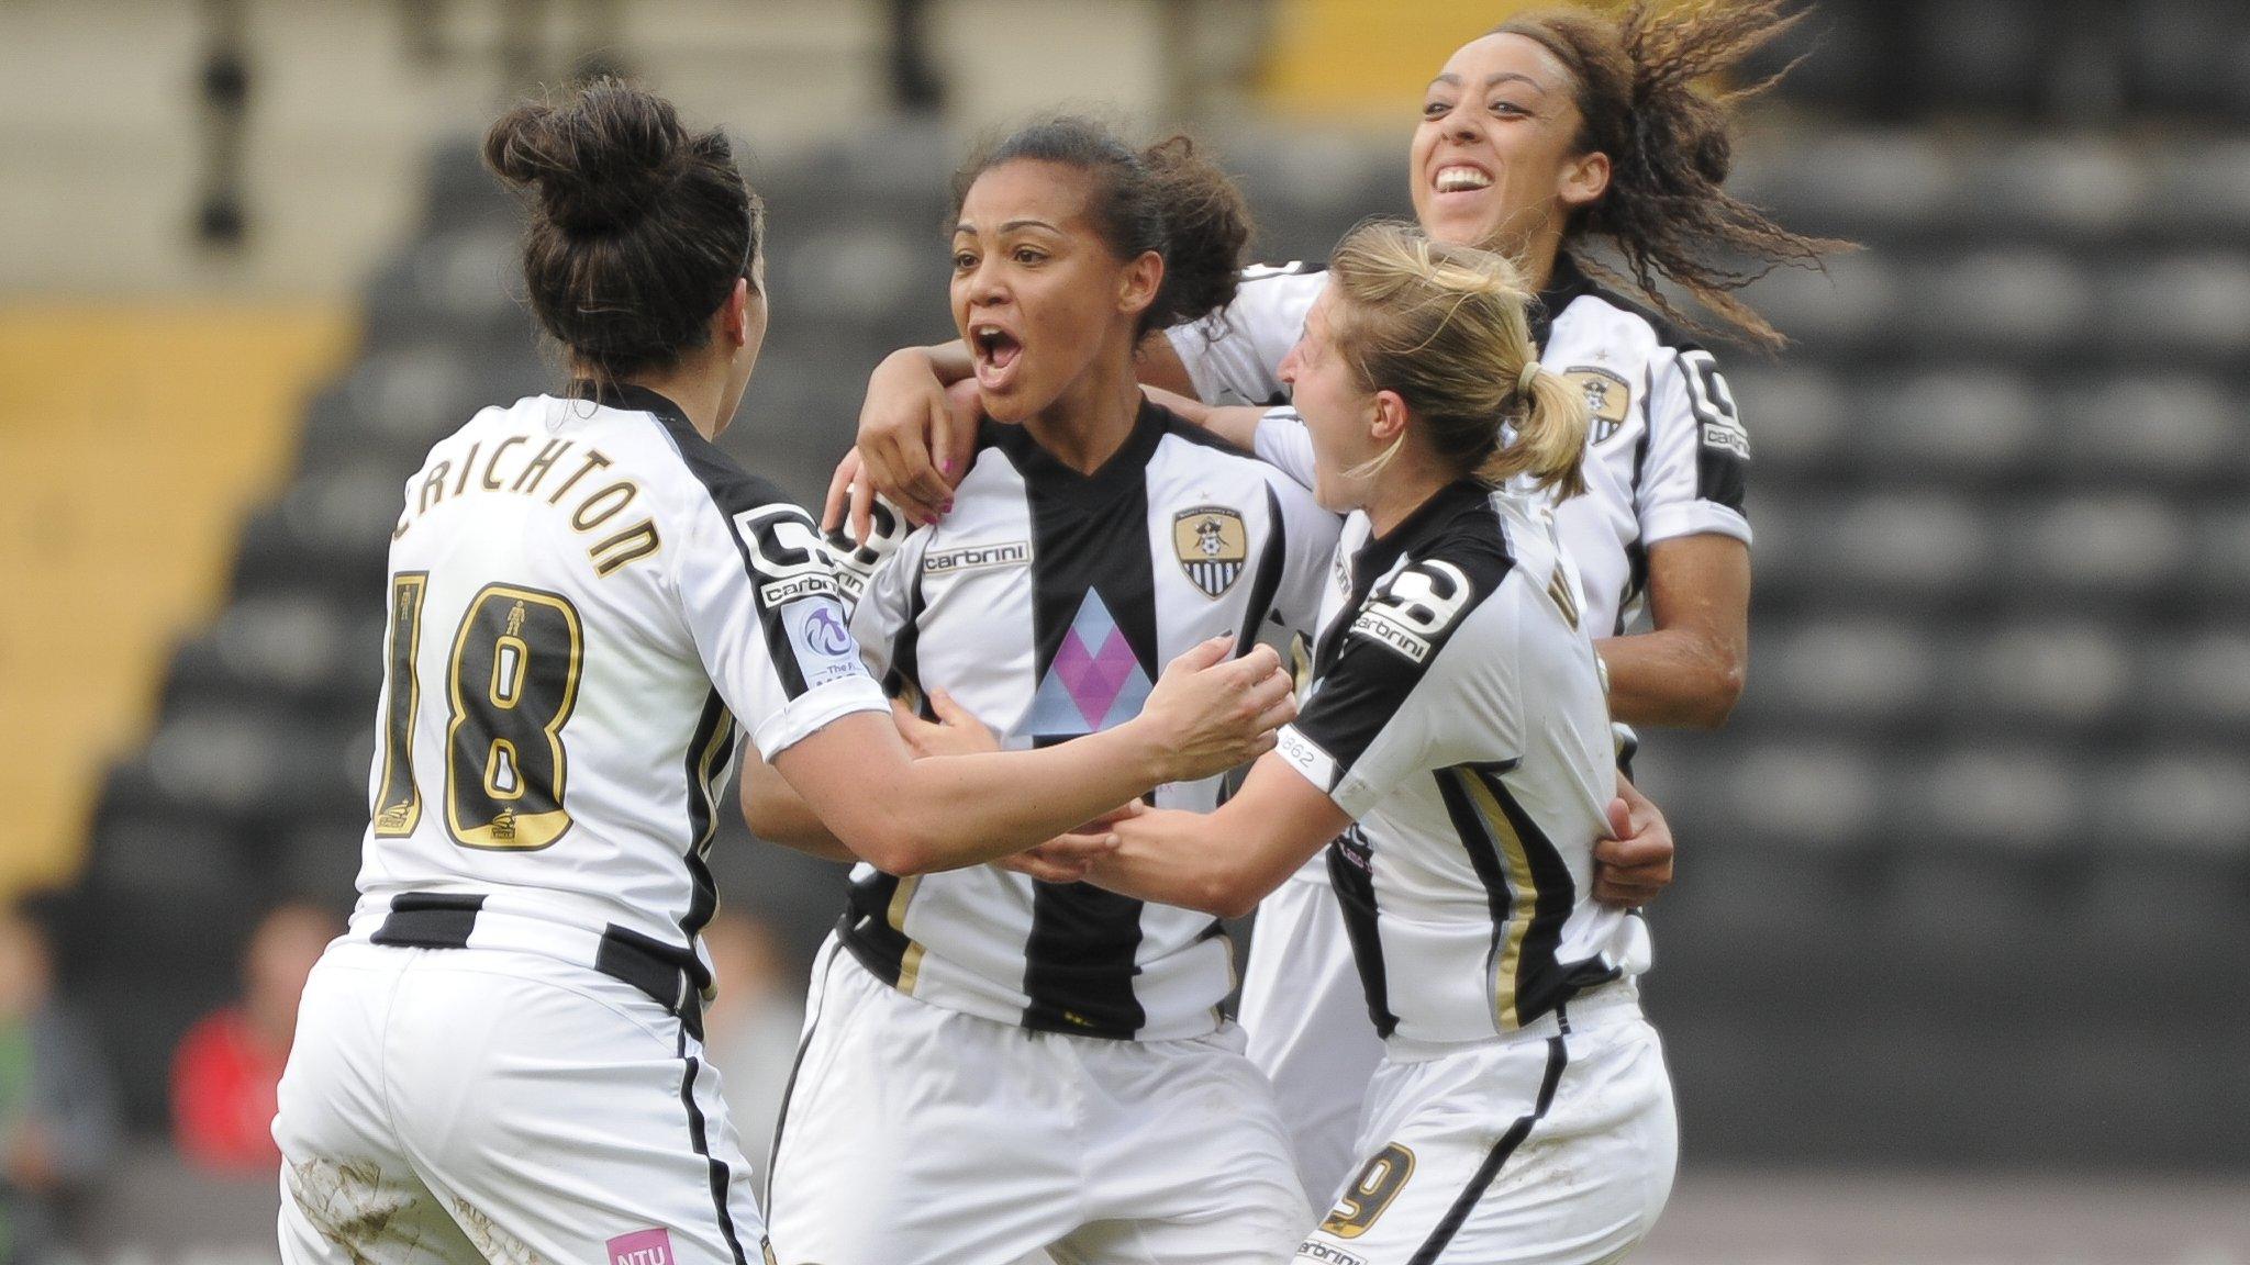
<svg viewBox="0 0 2250 1265"><path fill-rule="evenodd" d="M713 488L716 513L691 518L673 567L711 684L772 761L839 716L889 705L860 664L812 515L745 495L754 488Z"/></svg>

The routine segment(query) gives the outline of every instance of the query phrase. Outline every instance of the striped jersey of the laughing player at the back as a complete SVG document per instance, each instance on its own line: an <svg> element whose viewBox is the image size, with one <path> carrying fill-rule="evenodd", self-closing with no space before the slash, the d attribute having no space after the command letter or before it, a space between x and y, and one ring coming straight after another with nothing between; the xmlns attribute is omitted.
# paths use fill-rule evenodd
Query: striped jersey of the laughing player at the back
<svg viewBox="0 0 2250 1265"><path fill-rule="evenodd" d="M1298 263L1251 268L1235 302L1170 331L1172 349L1208 403L1287 403L1276 371L1305 331L1325 275ZM1532 313L1539 362L1586 392L1586 495L1557 506L1562 542L1586 583L1595 637L1634 626L1647 549L1674 536L1750 540L1742 513L1750 446L1735 396L1708 351L1660 317L1595 286L1570 257ZM1260 432L1258 452L1312 477L1312 446L1287 414Z"/></svg>

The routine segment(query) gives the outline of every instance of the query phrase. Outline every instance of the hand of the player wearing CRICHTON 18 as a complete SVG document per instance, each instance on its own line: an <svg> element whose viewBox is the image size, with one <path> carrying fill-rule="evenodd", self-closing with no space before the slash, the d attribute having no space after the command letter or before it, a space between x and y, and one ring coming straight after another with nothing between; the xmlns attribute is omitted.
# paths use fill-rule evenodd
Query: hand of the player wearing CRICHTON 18
<svg viewBox="0 0 2250 1265"><path fill-rule="evenodd" d="M1228 660L1233 637L1213 637L1163 669L1138 720L1166 752L1166 781L1195 781L1274 750L1274 729L1296 720L1296 696L1271 646Z"/></svg>

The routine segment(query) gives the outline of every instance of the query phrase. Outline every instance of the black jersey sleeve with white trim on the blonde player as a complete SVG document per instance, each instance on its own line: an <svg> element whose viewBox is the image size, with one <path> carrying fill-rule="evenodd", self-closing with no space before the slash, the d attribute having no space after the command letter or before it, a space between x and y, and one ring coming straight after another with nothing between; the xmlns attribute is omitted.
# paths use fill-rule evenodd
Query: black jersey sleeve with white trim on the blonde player
<svg viewBox="0 0 2250 1265"><path fill-rule="evenodd" d="M1276 752L1352 819L1406 777L1512 747L1505 601L1449 560L1404 567L1352 617Z"/></svg>

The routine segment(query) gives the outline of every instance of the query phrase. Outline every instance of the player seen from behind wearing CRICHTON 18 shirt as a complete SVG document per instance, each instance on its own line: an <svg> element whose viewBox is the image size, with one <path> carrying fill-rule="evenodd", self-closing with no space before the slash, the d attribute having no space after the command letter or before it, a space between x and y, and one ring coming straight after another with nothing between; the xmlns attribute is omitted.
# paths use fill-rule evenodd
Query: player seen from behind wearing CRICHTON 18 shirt
<svg viewBox="0 0 2250 1265"><path fill-rule="evenodd" d="M486 407L407 482L360 903L279 1089L281 1256L745 1265L698 948L738 727L911 876L1271 747L1289 682L1195 637L1082 743L909 759L812 520L713 446L767 317L724 135L598 81L500 119L486 160L536 189L524 286L580 383Z"/></svg>

